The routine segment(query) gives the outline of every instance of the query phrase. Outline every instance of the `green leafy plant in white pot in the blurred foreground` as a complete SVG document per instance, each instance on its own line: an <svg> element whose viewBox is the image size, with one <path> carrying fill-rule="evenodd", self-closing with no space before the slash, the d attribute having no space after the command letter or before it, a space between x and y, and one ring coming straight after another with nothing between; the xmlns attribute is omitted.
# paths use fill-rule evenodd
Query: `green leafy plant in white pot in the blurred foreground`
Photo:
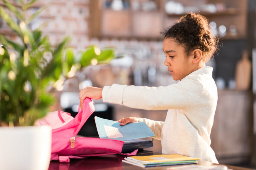
<svg viewBox="0 0 256 170"><path fill-rule="evenodd" d="M114 58L113 48L100 50L96 45L74 54L68 47L69 37L52 46L40 28L28 27L45 8L26 16L34 3L36 0L2 0L0 5L2 20L21 42L0 34L0 138L6 139L0 141L3 169L48 169L51 129L34 124L54 104L50 92L61 90L63 82L80 69ZM15 22L10 13L20 22Z"/></svg>

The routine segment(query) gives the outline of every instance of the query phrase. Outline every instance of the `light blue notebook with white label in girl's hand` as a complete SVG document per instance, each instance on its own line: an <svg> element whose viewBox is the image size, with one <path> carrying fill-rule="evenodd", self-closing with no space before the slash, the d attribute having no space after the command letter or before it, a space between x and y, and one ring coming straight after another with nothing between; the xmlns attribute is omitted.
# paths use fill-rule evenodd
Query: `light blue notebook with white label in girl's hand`
<svg viewBox="0 0 256 170"><path fill-rule="evenodd" d="M128 123L121 126L119 122L95 116L95 123L100 138L132 140L155 136L145 122Z"/></svg>

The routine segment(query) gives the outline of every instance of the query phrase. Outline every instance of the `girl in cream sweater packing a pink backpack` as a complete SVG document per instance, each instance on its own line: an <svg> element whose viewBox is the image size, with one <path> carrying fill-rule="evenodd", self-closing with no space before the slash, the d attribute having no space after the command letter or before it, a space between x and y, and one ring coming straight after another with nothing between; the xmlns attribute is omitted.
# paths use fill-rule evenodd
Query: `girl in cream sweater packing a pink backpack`
<svg viewBox="0 0 256 170"><path fill-rule="evenodd" d="M79 98L103 99L146 110L167 110L164 122L127 117L121 125L144 121L162 142L162 153L182 154L203 161L218 163L210 147L210 133L217 105L217 87L212 79L212 67L207 62L217 50L205 17L188 13L165 31L164 65L176 84L159 87L113 84L103 88L86 87Z"/></svg>

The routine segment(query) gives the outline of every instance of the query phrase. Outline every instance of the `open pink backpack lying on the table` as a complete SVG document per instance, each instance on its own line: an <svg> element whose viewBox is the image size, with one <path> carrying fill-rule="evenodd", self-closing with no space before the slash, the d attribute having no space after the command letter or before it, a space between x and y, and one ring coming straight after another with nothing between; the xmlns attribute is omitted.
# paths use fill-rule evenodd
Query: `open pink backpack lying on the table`
<svg viewBox="0 0 256 170"><path fill-rule="evenodd" d="M124 141L100 139L91 137L76 137L83 124L95 111L94 102L90 98L83 101L83 109L78 109L76 117L61 110L49 112L39 119L36 125L52 127L51 160L69 162L70 158L82 159L88 156L110 154L136 155L138 150L131 153L121 153Z"/></svg>

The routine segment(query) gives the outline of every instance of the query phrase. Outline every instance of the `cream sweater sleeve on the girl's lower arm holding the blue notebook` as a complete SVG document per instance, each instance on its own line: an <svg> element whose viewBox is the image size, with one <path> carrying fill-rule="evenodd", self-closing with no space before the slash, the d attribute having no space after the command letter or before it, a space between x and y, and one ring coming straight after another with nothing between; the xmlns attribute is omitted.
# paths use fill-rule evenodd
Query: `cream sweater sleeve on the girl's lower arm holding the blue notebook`
<svg viewBox="0 0 256 170"><path fill-rule="evenodd" d="M162 133L162 128L164 125L164 122L162 121L154 121L146 118L140 118L140 122L144 121L148 127L152 130L152 132L155 134L153 138L161 140L161 133Z"/></svg>

